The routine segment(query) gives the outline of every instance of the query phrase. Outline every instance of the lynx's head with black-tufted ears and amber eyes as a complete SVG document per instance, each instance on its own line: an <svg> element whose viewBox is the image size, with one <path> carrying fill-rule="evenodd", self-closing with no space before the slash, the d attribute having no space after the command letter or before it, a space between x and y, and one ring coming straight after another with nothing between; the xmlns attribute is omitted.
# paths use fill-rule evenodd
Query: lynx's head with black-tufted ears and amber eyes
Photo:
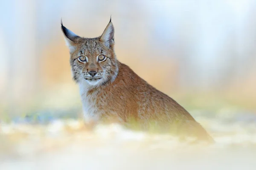
<svg viewBox="0 0 256 170"><path fill-rule="evenodd" d="M114 52L114 27L111 22L103 34L96 38L83 38L63 26L65 41L70 49L70 65L73 79L88 85L103 85L113 81L118 73L118 61Z"/></svg>

